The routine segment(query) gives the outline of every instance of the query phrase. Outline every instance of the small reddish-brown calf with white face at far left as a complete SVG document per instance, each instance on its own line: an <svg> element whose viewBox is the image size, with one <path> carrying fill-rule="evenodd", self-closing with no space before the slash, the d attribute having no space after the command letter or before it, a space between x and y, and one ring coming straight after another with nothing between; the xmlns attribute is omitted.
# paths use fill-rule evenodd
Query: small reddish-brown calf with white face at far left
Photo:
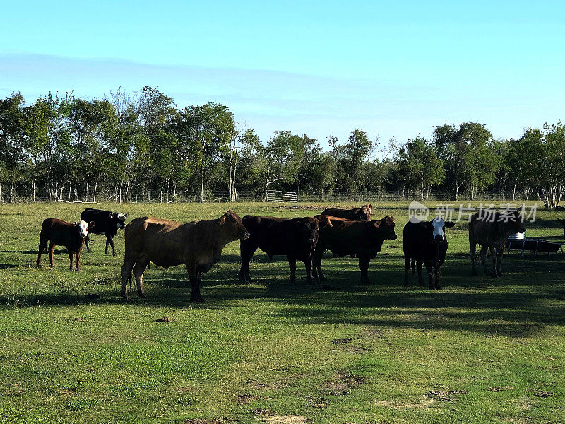
<svg viewBox="0 0 565 424"><path fill-rule="evenodd" d="M88 224L81 220L80 223L68 223L57 218L47 218L43 221L40 234L39 254L37 255L37 265L41 265L41 254L47 250L47 242L49 243L49 266L55 266L53 259L53 251L55 245L65 246L69 252L71 260L71 271L73 267L73 254L76 254L76 269L81 270L81 250L83 242L88 235L88 229L93 228L95 223Z"/></svg>

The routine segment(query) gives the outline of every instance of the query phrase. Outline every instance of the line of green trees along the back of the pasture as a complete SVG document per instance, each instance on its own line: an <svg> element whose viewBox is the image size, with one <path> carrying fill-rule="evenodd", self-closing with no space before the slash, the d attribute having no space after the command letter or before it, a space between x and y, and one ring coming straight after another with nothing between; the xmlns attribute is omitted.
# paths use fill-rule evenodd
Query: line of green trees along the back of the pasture
<svg viewBox="0 0 565 424"><path fill-rule="evenodd" d="M483 125L437 126L385 145L355 129L346 140L328 137L329 151L306 134L275 131L266 141L238 124L225 105L179 108L157 88L119 89L88 100L49 93L28 105L20 93L0 100L0 201L26 192L47 199L150 201L214 191L266 189L320 194L403 192L457 200L485 193L542 199L553 208L565 182L561 122L495 140Z"/></svg>

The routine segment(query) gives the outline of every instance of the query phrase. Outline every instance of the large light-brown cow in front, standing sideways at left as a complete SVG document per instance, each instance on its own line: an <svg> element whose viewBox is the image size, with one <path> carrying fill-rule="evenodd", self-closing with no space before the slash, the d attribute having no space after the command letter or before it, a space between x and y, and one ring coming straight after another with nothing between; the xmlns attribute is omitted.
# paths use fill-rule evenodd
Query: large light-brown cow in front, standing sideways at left
<svg viewBox="0 0 565 424"><path fill-rule="evenodd" d="M131 272L137 290L145 298L143 273L150 262L164 268L184 264L189 273L191 302L204 302L200 295L202 274L220 259L229 242L246 239L249 232L241 218L227 211L218 219L177 223L145 216L126 225L126 253L121 266L121 295L128 298L127 282Z"/></svg>

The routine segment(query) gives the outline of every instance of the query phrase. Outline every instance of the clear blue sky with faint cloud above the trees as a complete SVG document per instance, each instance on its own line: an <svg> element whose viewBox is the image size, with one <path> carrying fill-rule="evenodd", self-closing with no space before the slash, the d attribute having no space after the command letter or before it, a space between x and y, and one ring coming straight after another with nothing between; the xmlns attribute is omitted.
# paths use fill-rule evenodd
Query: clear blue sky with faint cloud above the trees
<svg viewBox="0 0 565 424"><path fill-rule="evenodd" d="M565 119L563 1L13 1L0 96L159 86L225 103L261 139L398 141L444 123L495 137Z"/></svg>

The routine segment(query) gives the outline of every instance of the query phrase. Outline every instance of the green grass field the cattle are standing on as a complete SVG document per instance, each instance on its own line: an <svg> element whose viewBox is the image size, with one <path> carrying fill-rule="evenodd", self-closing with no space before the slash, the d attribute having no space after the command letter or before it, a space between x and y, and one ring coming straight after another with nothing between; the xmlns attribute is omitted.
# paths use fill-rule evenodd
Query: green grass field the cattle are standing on
<svg viewBox="0 0 565 424"><path fill-rule="evenodd" d="M307 216L234 204L235 212ZM100 208L116 209L114 204ZM129 218L217 218L227 204L127 204ZM203 278L191 305L183 266L145 273L148 299L119 297L105 237L69 271L37 267L42 220L77 220L81 204L0 206L0 423L563 423L565 257L513 253L504 278L470 276L465 223L448 229L443 290L403 285L406 204L398 239L359 283L357 259L322 266L325 287L287 283L284 257L258 252L237 280L239 242ZM562 240L561 213L538 211L528 237ZM424 276L424 281L427 276ZM98 298L99 296L99 298Z"/></svg>

